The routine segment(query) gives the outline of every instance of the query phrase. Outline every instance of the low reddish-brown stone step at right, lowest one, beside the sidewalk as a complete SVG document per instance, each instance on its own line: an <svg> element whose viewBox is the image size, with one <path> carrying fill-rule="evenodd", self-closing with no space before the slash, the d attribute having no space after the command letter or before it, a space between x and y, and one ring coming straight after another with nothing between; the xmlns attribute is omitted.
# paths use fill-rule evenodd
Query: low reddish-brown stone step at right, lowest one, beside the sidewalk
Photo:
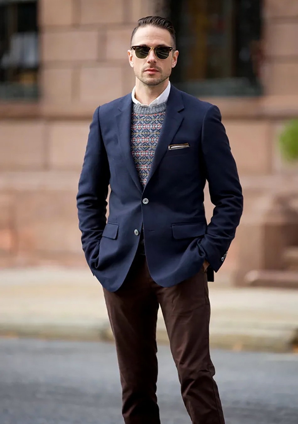
<svg viewBox="0 0 298 424"><path fill-rule="evenodd" d="M298 289L298 271L252 270L244 279L251 287Z"/></svg>

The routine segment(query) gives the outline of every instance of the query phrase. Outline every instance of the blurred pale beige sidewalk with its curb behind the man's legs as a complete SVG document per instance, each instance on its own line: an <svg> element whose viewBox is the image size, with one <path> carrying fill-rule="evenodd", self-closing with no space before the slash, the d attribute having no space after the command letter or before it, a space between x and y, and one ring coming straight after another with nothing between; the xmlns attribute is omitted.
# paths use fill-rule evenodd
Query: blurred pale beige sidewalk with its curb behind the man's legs
<svg viewBox="0 0 298 424"><path fill-rule="evenodd" d="M211 347L298 351L298 290L208 285ZM0 336L112 340L102 287L88 269L0 270Z"/></svg>

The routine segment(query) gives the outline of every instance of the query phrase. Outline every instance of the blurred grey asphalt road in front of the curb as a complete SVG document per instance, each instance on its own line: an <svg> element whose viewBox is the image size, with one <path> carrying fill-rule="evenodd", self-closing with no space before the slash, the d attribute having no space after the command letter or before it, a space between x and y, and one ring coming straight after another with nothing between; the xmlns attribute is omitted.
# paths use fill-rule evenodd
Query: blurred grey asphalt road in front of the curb
<svg viewBox="0 0 298 424"><path fill-rule="evenodd" d="M226 424L297 424L298 354L212 351ZM162 424L190 424L160 346ZM121 424L113 344L0 339L0 424Z"/></svg>

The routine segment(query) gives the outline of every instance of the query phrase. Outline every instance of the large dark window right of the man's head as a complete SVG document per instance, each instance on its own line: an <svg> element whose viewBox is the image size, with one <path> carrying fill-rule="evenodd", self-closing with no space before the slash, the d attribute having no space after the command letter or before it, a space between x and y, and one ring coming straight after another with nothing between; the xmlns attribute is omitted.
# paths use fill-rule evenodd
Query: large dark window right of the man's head
<svg viewBox="0 0 298 424"><path fill-rule="evenodd" d="M171 80L196 96L262 93L261 0L171 0L179 58Z"/></svg>

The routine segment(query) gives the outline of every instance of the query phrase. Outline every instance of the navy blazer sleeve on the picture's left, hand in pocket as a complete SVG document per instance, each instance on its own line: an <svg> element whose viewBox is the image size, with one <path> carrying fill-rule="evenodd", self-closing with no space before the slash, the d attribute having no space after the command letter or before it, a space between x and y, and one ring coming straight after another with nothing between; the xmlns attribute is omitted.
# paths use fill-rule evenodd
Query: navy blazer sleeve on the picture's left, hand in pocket
<svg viewBox="0 0 298 424"><path fill-rule="evenodd" d="M110 168L99 125L99 107L90 125L83 168L77 192L82 247L89 267L95 268L99 243L106 224Z"/></svg>

